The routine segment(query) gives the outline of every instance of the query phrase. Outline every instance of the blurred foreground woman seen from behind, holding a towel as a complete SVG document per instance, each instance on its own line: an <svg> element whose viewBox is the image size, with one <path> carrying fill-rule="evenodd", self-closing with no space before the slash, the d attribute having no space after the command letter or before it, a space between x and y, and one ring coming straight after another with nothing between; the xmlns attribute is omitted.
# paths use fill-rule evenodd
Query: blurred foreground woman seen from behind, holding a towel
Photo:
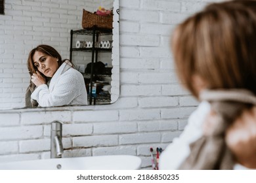
<svg viewBox="0 0 256 183"><path fill-rule="evenodd" d="M212 3L175 29L179 78L201 101L160 169L256 169L256 1Z"/></svg>

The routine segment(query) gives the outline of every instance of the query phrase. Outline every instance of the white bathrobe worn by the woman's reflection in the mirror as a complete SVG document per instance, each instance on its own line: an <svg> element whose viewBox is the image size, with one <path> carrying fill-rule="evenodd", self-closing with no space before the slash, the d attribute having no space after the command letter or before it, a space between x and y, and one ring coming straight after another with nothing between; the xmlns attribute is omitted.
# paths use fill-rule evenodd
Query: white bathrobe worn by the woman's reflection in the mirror
<svg viewBox="0 0 256 183"><path fill-rule="evenodd" d="M31 95L41 107L63 105L87 105L87 92L83 75L75 70L70 61L60 65L49 88L47 84L38 86Z"/></svg>

